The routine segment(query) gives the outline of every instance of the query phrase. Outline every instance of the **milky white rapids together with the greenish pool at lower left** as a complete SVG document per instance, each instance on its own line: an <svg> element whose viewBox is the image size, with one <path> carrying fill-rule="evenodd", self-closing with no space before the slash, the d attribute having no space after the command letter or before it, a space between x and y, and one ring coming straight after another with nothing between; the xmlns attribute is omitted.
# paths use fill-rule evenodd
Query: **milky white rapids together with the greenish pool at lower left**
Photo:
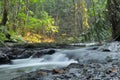
<svg viewBox="0 0 120 80"><path fill-rule="evenodd" d="M37 69L53 69L77 63L73 59L68 59L64 54L46 55L43 58L16 59L12 62L11 65L0 65L0 80L10 80Z"/></svg>

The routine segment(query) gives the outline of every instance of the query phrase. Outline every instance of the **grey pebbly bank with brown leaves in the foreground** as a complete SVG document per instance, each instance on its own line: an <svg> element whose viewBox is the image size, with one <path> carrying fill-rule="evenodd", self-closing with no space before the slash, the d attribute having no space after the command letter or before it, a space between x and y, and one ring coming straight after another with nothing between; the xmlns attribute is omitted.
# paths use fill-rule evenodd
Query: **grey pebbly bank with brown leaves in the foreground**
<svg viewBox="0 0 120 80"><path fill-rule="evenodd" d="M72 63L61 69L37 70L12 80L119 80L120 62Z"/></svg>

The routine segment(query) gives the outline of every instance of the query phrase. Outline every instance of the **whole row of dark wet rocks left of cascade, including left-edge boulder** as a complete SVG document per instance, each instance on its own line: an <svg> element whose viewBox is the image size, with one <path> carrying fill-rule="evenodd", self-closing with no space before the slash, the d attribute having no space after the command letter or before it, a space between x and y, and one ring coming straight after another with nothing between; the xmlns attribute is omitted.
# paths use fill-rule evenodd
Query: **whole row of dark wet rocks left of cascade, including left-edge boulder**
<svg viewBox="0 0 120 80"><path fill-rule="evenodd" d="M0 49L0 64L11 63L13 59L24 59L24 58L40 58L44 55L52 55L55 53L54 49L26 49L26 48L11 48L11 49Z"/></svg>

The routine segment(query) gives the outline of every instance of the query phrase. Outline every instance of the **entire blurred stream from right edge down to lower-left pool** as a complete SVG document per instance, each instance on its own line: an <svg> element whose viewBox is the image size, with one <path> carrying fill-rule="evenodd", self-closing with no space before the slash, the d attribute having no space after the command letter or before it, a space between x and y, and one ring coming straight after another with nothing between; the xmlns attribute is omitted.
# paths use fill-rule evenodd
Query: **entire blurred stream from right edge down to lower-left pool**
<svg viewBox="0 0 120 80"><path fill-rule="evenodd" d="M117 45L117 47L115 45ZM97 50L91 50L93 47L80 49L58 49L52 55L45 55L41 58L28 58L13 60L11 65L0 65L0 80L10 80L21 74L36 71L38 69L53 69L65 67L71 63L89 62L89 61L106 61L107 59L119 60L120 46L117 43L107 45L111 52L102 52L104 46ZM119 47L118 47L119 46ZM117 49L117 50L116 50Z"/></svg>

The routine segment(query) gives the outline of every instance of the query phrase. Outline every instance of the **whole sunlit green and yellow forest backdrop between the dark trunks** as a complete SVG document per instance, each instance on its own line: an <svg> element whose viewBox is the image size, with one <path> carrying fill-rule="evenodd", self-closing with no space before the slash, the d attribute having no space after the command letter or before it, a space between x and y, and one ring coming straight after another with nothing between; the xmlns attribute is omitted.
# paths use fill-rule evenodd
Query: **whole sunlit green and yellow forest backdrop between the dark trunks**
<svg viewBox="0 0 120 80"><path fill-rule="evenodd" d="M1 28L19 42L100 42L111 37L106 5L107 0L9 0L8 21Z"/></svg>

